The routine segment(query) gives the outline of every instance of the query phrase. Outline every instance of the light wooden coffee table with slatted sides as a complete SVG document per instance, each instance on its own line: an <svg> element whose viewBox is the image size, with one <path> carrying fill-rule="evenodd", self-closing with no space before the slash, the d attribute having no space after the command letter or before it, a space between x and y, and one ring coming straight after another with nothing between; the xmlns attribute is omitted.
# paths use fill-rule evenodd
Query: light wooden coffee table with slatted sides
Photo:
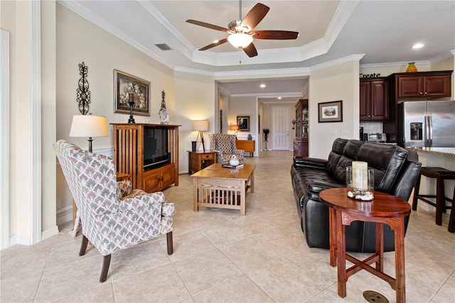
<svg viewBox="0 0 455 303"><path fill-rule="evenodd" d="M193 211L199 206L240 209L245 216L248 189L255 192L255 165L244 164L233 171L220 163L212 164L191 175L193 178Z"/></svg>

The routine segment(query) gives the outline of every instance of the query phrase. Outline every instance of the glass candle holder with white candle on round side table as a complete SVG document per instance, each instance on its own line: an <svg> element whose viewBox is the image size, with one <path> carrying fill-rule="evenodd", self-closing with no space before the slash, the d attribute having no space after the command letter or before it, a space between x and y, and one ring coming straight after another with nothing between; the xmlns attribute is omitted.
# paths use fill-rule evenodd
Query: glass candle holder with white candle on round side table
<svg viewBox="0 0 455 303"><path fill-rule="evenodd" d="M349 198L372 201L375 192L375 172L373 169L346 167L346 188Z"/></svg>

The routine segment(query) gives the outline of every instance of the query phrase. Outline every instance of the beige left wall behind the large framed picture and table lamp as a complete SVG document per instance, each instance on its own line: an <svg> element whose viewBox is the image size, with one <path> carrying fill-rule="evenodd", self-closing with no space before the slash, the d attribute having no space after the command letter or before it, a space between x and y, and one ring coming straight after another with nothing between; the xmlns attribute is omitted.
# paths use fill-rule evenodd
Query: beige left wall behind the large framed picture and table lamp
<svg viewBox="0 0 455 303"><path fill-rule="evenodd" d="M68 139L82 149L88 148L87 139L69 137L73 115L80 115L76 90L77 82L81 78L78 66L82 62L88 66L87 81L91 95L89 112L93 115L106 116L108 123L128 121L129 115L114 113L114 69L117 69L151 83L151 115L135 115L136 122L159 124L161 91L164 90L166 108L170 114L169 123L178 124L174 115L173 70L60 4L57 4L56 10L56 139ZM109 125L108 128L109 137L95 138L93 142L95 151L109 153L112 149L112 127ZM60 167L54 174L57 175L57 201L53 203L57 204L58 222L61 223L71 218L72 196ZM65 209L66 211L62 211Z"/></svg>

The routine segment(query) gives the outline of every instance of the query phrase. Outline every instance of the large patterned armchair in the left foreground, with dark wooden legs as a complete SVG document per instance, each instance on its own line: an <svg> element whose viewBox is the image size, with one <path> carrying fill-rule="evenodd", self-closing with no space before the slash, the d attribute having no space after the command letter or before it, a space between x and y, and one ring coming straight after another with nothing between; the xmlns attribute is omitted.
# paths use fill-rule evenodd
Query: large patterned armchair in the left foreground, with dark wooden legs
<svg viewBox="0 0 455 303"><path fill-rule="evenodd" d="M173 253L174 204L161 192L132 190L129 181L116 181L112 159L84 151L65 140L54 144L55 153L73 194L82 223L79 255L88 241L104 256L100 282L105 282L111 253L159 235L167 236L168 255Z"/></svg>

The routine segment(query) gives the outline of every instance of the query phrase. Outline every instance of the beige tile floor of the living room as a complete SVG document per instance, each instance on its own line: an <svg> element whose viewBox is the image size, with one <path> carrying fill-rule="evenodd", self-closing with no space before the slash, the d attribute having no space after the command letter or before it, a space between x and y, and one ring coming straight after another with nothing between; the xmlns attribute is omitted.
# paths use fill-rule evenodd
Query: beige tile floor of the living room
<svg viewBox="0 0 455 303"><path fill-rule="evenodd" d="M328 250L309 248L299 226L290 182L289 151L264 151L247 214L201 208L193 211L193 183L167 188L176 203L174 253L166 238L112 255L107 282L93 247L78 256L80 233L60 234L33 246L1 250L1 302L366 302L365 290L395 302L395 291L361 271L350 277L347 297L337 295L336 268ZM455 234L435 225L434 213L412 212L405 238L408 302L455 302ZM394 253L385 270L395 276Z"/></svg>

